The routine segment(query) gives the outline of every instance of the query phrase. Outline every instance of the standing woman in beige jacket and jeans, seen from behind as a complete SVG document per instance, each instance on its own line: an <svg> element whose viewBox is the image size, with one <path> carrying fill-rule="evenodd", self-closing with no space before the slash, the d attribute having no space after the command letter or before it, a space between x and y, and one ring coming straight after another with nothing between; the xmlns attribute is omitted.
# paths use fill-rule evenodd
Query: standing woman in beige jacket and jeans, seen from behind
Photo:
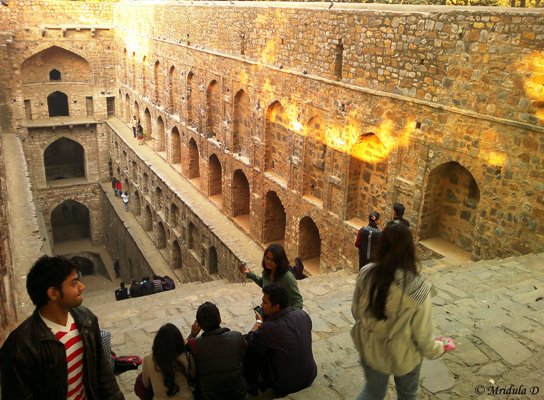
<svg viewBox="0 0 544 400"><path fill-rule="evenodd" d="M434 339L431 283L419 274L410 230L386 227L375 256L359 272L351 306L351 335L365 373L358 399L383 399L392 374L397 398L415 400L423 357L440 357L455 345Z"/></svg>

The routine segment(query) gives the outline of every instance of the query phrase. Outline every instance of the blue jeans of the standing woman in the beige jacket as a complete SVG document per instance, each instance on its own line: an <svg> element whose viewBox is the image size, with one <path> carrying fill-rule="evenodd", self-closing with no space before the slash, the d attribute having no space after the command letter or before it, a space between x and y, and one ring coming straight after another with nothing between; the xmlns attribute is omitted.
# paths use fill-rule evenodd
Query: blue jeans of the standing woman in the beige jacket
<svg viewBox="0 0 544 400"><path fill-rule="evenodd" d="M366 382L363 391L357 396L357 400L383 400L387 392L389 375L375 371L364 363L361 364L365 371ZM420 370L421 364L404 376L395 376L398 400L417 400Z"/></svg>

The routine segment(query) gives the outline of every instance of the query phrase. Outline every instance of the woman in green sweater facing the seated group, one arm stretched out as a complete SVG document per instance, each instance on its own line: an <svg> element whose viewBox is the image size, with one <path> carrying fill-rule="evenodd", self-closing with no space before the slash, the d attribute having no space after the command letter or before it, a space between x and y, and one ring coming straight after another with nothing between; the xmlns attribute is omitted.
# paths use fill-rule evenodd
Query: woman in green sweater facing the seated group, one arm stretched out
<svg viewBox="0 0 544 400"><path fill-rule="evenodd" d="M265 287L272 283L277 283L284 287L289 296L289 305L302 310L302 296L298 291L295 276L289 271L289 260L284 248L279 244L268 246L264 251L262 266L263 273L260 277L251 272L244 263L239 265L239 269L241 273L245 274L247 278L260 287Z"/></svg>

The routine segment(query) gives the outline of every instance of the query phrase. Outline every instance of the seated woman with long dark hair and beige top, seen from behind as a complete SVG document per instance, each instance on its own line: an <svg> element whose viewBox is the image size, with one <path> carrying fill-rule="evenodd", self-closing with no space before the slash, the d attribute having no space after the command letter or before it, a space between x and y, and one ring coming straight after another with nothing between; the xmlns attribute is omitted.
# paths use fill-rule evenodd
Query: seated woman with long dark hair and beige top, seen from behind
<svg viewBox="0 0 544 400"><path fill-rule="evenodd" d="M153 340L152 353L144 358L144 387L153 388L154 399L190 400L194 376L195 363L185 351L180 330L170 323L161 326Z"/></svg>

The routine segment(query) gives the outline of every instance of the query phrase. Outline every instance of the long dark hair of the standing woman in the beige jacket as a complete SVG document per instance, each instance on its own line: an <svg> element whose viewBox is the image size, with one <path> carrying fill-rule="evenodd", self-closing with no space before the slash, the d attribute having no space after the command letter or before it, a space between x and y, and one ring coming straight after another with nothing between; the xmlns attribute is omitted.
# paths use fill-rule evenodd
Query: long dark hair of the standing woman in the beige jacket
<svg viewBox="0 0 544 400"><path fill-rule="evenodd" d="M387 319L385 304L397 269L418 274L416 249L410 230L404 224L390 224L380 235L376 263L368 273L368 308L378 320Z"/></svg>

